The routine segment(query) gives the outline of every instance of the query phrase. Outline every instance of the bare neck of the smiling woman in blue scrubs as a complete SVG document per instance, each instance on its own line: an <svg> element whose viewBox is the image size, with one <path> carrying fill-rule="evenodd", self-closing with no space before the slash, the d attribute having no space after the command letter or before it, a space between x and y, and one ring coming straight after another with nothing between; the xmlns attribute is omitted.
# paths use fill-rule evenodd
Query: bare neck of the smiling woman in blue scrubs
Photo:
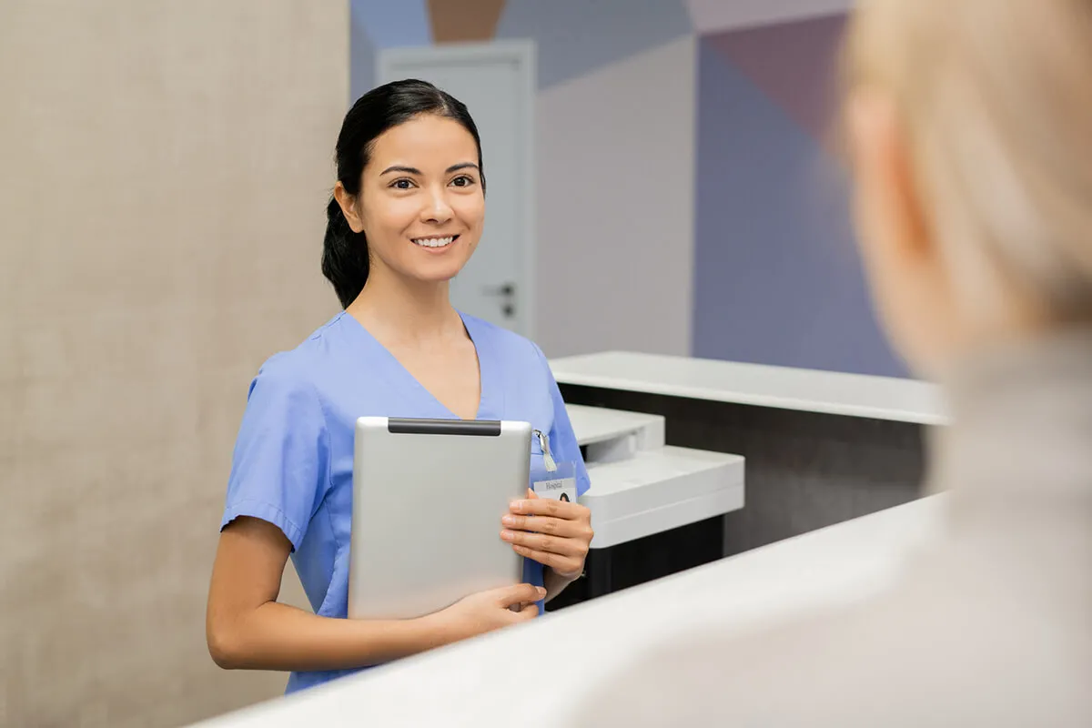
<svg viewBox="0 0 1092 728"><path fill-rule="evenodd" d="M447 281L411 281L372 268L364 290L345 311L380 341L419 343L463 333Z"/></svg>

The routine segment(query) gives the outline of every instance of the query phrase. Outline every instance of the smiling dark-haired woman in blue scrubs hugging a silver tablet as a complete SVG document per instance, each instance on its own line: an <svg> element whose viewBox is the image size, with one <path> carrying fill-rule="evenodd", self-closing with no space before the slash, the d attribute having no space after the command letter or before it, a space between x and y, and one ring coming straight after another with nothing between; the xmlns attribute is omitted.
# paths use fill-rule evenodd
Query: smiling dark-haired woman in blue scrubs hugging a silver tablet
<svg viewBox="0 0 1092 728"><path fill-rule="evenodd" d="M592 538L587 509L529 491L497 524L526 558L526 584L422 619L345 619L358 417L530 421L555 460L575 464L578 492L589 482L542 351L449 298L485 217L466 107L420 81L380 86L346 115L336 160L322 272L345 310L270 358L250 386L209 592L215 661L290 670L288 692L532 619L580 575ZM313 614L276 600L289 556ZM437 553L437 573L458 558Z"/></svg>

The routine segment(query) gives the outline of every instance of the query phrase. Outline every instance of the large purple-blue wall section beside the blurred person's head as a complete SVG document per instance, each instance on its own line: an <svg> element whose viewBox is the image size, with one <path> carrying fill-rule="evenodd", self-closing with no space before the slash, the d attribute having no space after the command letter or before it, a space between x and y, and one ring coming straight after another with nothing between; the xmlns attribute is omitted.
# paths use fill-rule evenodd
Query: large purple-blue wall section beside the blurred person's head
<svg viewBox="0 0 1092 728"><path fill-rule="evenodd" d="M876 324L840 166L715 39L698 75L695 356L905 375Z"/></svg>

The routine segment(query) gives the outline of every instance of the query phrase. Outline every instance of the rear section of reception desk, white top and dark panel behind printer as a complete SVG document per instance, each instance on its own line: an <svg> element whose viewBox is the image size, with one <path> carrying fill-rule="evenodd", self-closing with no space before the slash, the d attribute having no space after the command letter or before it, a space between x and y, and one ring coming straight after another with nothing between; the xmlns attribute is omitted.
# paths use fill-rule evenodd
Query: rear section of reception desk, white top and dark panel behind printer
<svg viewBox="0 0 1092 728"><path fill-rule="evenodd" d="M666 444L745 460L746 505L715 522L725 556L919 498L925 430L948 421L914 380L625 351L550 367L570 405L660 416Z"/></svg>

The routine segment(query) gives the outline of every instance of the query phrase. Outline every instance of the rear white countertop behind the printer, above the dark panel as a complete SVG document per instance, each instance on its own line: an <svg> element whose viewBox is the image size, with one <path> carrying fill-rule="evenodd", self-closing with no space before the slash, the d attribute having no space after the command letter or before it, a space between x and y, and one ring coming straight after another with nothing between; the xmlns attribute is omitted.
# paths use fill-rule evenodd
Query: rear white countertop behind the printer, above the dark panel
<svg viewBox="0 0 1092 728"><path fill-rule="evenodd" d="M562 384L919 425L948 423L939 387L910 379L627 351L554 359L550 368Z"/></svg>

